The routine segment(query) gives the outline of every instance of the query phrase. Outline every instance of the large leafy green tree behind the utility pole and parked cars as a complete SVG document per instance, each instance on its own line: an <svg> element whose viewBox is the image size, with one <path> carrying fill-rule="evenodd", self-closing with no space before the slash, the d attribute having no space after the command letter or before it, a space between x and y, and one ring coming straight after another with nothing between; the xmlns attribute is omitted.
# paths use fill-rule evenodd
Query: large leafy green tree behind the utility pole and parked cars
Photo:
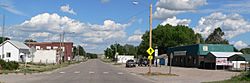
<svg viewBox="0 0 250 83"><path fill-rule="evenodd" d="M157 46L159 54L165 53L166 47L196 44L198 40L199 42L203 42L203 38L200 34L195 34L193 29L182 25L158 25L152 31L152 48ZM146 56L146 50L148 48L149 32L146 31L138 47L138 54Z"/></svg>

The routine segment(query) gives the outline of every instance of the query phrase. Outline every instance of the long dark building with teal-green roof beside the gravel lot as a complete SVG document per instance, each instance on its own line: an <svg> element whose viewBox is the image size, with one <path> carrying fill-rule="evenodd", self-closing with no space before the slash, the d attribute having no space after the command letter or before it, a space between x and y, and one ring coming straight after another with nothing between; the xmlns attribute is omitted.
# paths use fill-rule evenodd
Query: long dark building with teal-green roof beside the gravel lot
<svg viewBox="0 0 250 83"><path fill-rule="evenodd" d="M206 68L211 66L211 63L205 62L205 58L210 52L234 52L234 49L232 45L225 44L194 44L171 47L166 51L168 57L173 56L172 65Z"/></svg>

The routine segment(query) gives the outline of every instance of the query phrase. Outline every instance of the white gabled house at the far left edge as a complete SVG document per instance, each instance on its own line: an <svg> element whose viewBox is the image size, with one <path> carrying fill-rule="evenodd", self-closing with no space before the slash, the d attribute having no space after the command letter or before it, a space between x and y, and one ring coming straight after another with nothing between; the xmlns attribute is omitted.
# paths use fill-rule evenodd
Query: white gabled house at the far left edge
<svg viewBox="0 0 250 83"><path fill-rule="evenodd" d="M29 47L22 42L7 40L0 45L0 57L5 61L30 62Z"/></svg>

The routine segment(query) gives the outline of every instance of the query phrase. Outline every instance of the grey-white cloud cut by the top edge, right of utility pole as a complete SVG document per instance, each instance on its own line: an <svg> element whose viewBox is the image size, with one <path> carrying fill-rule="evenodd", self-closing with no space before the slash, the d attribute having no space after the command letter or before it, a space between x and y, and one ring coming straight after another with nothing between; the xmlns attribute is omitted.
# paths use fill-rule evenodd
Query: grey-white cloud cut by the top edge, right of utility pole
<svg viewBox="0 0 250 83"><path fill-rule="evenodd" d="M172 18L179 13L194 11L206 4L206 0L158 0L153 16L156 19Z"/></svg>

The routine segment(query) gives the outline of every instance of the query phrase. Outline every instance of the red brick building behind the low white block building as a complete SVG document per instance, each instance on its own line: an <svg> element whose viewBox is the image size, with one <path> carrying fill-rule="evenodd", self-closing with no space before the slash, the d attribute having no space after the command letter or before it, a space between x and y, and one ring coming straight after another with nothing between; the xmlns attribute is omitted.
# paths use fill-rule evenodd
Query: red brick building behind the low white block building
<svg viewBox="0 0 250 83"><path fill-rule="evenodd" d="M62 50L61 60L72 59L73 42L27 42L27 46L34 47L36 50L57 50L56 60L60 60L60 47Z"/></svg>

